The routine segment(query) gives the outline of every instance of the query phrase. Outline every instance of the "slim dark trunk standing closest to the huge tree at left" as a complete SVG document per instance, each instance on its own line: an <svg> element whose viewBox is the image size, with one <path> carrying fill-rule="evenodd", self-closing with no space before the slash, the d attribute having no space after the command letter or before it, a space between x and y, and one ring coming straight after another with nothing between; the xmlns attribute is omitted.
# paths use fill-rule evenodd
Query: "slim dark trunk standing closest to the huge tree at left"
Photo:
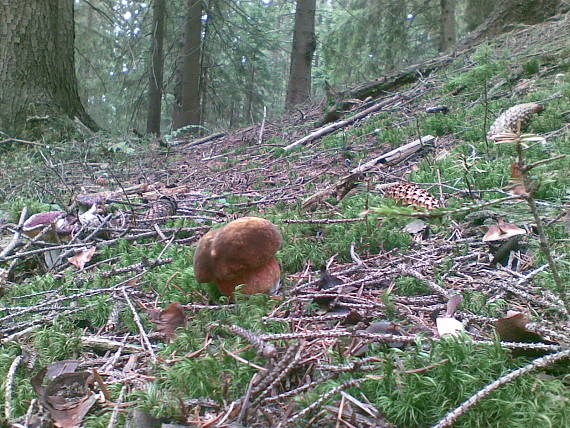
<svg viewBox="0 0 570 428"><path fill-rule="evenodd" d="M163 41L166 1L154 0L152 7L152 43L150 49L148 110L146 133L160 135L162 77L164 69Z"/></svg>

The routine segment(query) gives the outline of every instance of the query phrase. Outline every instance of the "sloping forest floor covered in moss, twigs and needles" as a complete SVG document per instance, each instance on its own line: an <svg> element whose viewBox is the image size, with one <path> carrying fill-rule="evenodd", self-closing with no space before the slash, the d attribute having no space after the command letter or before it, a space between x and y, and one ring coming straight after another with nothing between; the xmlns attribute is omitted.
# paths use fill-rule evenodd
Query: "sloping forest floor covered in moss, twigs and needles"
<svg viewBox="0 0 570 428"><path fill-rule="evenodd" d="M345 118L375 112L291 149L326 126L322 103L206 142L95 135L0 147L0 418L570 426L569 30L562 15L457 54ZM513 191L515 144L485 137L528 102L545 107L528 125L544 141L522 156L538 162L535 212L562 286ZM438 106L447 110L430 112ZM378 160L420 137L418 150ZM401 181L424 189L420 205L444 208L383 193ZM71 241L20 236L24 207L82 203L96 203L99 223L83 216ZM197 283L194 244L243 216L281 231L281 287L228 302ZM483 240L509 225L521 234ZM323 265L339 280L324 305Z"/></svg>

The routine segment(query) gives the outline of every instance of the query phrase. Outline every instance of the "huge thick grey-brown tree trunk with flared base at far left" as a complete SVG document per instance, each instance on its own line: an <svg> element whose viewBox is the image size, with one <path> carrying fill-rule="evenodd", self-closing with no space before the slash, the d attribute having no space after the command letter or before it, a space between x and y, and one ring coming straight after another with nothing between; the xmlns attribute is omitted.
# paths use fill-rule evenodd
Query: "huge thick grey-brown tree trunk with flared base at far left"
<svg viewBox="0 0 570 428"><path fill-rule="evenodd" d="M97 129L77 89L73 0L2 0L0 16L0 129L35 137L62 116Z"/></svg>

